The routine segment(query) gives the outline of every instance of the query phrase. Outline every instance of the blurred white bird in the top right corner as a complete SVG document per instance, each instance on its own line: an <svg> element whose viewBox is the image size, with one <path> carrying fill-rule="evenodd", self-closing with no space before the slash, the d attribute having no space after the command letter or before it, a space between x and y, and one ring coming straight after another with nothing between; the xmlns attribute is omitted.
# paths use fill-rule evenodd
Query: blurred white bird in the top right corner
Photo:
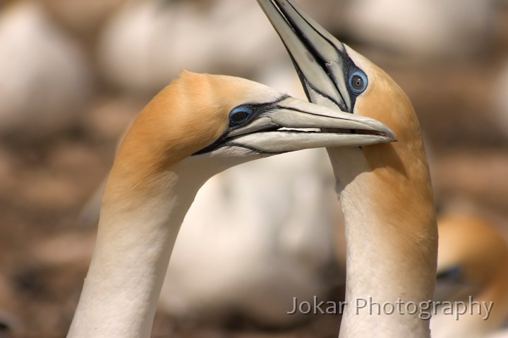
<svg viewBox="0 0 508 338"><path fill-rule="evenodd" d="M349 1L344 29L378 48L404 55L471 56L492 38L495 1Z"/></svg>

